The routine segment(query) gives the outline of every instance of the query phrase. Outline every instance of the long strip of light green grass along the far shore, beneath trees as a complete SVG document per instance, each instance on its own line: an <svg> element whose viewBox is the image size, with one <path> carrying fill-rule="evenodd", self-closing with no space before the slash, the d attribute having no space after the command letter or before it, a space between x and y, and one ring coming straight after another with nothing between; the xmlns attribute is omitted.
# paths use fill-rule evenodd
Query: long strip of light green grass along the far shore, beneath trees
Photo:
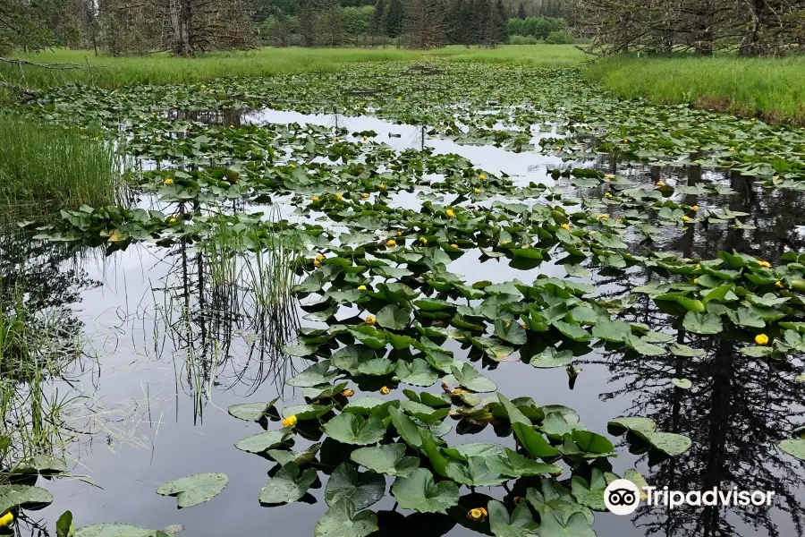
<svg viewBox="0 0 805 537"><path fill-rule="evenodd" d="M445 47L429 51L401 48L260 48L243 52L219 52L197 58L167 54L112 57L88 50L48 50L16 55L39 64L76 64L81 69L46 69L0 64L4 80L40 90L81 82L105 88L129 84L173 84L210 81L230 76L264 77L292 72L336 72L341 64L386 60L417 61L446 57L457 61L522 62L529 64L578 64L584 54L570 45Z"/></svg>

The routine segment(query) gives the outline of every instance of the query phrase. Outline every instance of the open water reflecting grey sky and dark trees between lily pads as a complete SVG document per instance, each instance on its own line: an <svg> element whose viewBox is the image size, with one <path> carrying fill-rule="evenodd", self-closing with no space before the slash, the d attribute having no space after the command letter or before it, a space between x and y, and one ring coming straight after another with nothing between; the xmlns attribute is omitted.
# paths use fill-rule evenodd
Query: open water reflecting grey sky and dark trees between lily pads
<svg viewBox="0 0 805 537"><path fill-rule="evenodd" d="M691 258L712 258L716 251L734 249L775 262L784 250L801 251L805 246L798 226L805 207L801 194L763 192L751 178L729 172L631 167L607 156L595 162L565 163L536 153L515 154L491 146L428 139L419 127L368 117L263 112L221 118L225 123L235 120L309 121L346 124L356 131L374 129L381 133L381 141L395 149L428 146L436 152L456 152L489 171L513 175L523 184L555 183L548 170L574 166L594 166L646 183L660 179L677 185L719 183L735 193L688 196L684 201L702 208L712 204L749 213L743 221L755 226L753 229L691 226L687 231L665 234L653 248ZM387 133L399 137L384 139ZM406 194L395 202L415 207L417 201ZM142 196L139 203L151 207L156 200ZM641 251L645 245L635 243L631 248ZM36 249L36 255L30 249ZM259 490L275 464L233 447L237 440L258 432L259 426L226 413L228 405L265 402L276 396L282 397L280 407L294 404L301 393L284 386L284 379L306 366L301 360L275 361L275 349L261 338L265 319L260 319L248 297L209 283L204 277L208 268L198 251L139 245L104 257L97 251L30 243L17 235L3 239L2 251L3 276L13 277L16 260L35 260L25 268L30 300L37 299L42 310L64 308L89 338L89 355L73 365L71 375L72 388L87 398L72 406L72 424L78 432L77 441L68 449L68 461L72 473L89 475L98 487L76 479L40 479L38 484L50 490L55 501L42 511L29 513L31 520L19 526L21 534L38 534L39 520L53 528L55 518L68 509L77 525L114 521L160 529L183 524L182 535L198 537L312 534L318 517L326 511L322 489L313 491L318 499L314 505L260 507ZM481 263L477 252L470 251L455 260L450 270L470 282L488 279L497 283L515 277L531 281L538 274L565 277L563 268L552 262L529 271L511 268L507 262ZM623 296L646 279L642 268L632 268L625 278L606 271L593 277L599 293L613 297ZM646 323L682 340L665 313L647 297L640 297L632 311L626 320ZM301 326L321 326L295 319ZM294 328L294 322L272 329L284 333ZM580 357L583 371L572 387L563 369L536 370L528 365L528 357L523 357L523 363L518 354L484 374L506 394L532 396L538 405L574 408L589 430L603 433L606 422L614 417L642 416L655 420L660 430L692 440L690 451L653 468L645 457L631 455L621 446L613 461L617 473L637 467L649 484L667 485L672 490L734 485L741 490L776 493L775 506L765 512L740 507L668 512L644 506L635 516L597 513L599 536L801 535L805 474L800 461L776 447L805 422L795 369L782 362L747 358L737 352L737 342L729 337L699 337L696 346L707 354L695 359L649 358L601 347ZM457 358L467 353L457 344L452 348ZM692 388L675 389L672 378L691 379ZM68 387L62 383L60 389ZM486 437L493 438L492 431L474 435L471 441ZM448 441L469 440L452 433ZM297 442L295 449L303 445ZM155 493L171 479L208 472L225 473L229 485L202 507L178 510L173 499ZM479 488L477 492L490 490ZM383 530L378 534L474 533L449 516L417 515L402 520L399 514L382 513L393 507L391 496L372 507L381 512ZM384 517L394 523L383 524Z"/></svg>

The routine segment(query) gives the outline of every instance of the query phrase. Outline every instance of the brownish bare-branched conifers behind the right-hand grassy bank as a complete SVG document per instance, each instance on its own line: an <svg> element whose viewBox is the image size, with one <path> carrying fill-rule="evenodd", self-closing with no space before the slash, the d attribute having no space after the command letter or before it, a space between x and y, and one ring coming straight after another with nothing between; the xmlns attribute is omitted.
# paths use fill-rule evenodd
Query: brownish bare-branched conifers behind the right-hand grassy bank
<svg viewBox="0 0 805 537"><path fill-rule="evenodd" d="M805 0L576 0L571 19L603 55L805 51Z"/></svg>

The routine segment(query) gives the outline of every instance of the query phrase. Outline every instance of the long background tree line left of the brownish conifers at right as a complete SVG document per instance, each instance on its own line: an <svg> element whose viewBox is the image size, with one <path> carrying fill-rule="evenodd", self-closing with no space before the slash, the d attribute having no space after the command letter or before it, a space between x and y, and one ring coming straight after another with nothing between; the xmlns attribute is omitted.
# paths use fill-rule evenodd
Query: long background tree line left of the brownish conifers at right
<svg viewBox="0 0 805 537"><path fill-rule="evenodd" d="M495 47L512 36L563 42L572 1L0 0L0 55L44 47L111 55L265 44Z"/></svg>

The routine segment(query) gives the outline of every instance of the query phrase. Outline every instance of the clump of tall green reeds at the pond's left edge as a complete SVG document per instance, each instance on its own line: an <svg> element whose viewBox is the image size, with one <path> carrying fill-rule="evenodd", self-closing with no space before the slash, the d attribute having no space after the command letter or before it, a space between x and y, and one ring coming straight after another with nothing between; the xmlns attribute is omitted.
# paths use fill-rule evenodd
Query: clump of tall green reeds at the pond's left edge
<svg viewBox="0 0 805 537"><path fill-rule="evenodd" d="M0 147L0 223L118 200L121 165L98 132L0 115Z"/></svg>

